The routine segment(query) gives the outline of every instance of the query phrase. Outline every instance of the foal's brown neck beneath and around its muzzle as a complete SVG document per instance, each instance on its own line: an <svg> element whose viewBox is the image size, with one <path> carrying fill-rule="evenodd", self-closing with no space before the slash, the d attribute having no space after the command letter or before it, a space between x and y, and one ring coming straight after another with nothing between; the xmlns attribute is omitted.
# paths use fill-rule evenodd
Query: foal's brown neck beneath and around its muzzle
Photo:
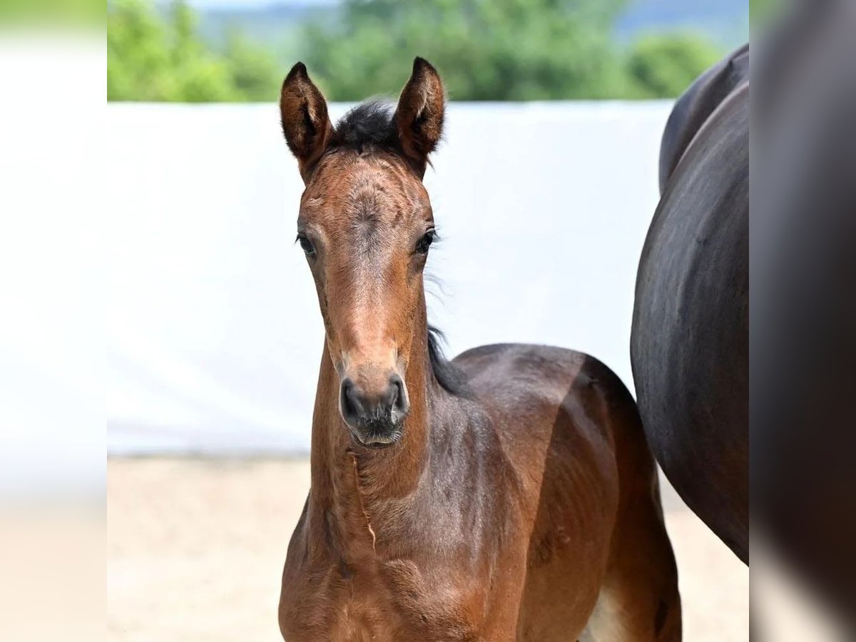
<svg viewBox="0 0 856 642"><path fill-rule="evenodd" d="M339 377L327 344L321 357L318 391L312 416L312 492L318 516L337 521L380 521L400 514L401 502L413 496L424 479L430 449L431 395L437 386L428 356L428 326L421 315L413 331L413 346L405 372L410 412L401 440L382 449L354 443L338 407ZM371 524L369 531L372 530ZM372 532L374 538L374 532Z"/></svg>

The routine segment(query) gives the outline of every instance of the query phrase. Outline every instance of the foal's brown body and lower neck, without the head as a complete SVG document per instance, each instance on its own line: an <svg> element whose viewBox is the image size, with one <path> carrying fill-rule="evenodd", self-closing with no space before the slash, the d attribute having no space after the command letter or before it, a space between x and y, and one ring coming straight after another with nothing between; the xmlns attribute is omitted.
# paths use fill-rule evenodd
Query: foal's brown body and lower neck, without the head
<svg viewBox="0 0 856 642"><path fill-rule="evenodd" d="M319 400L338 386L329 364ZM316 406L286 639L576 640L598 597L594 639L680 639L657 475L618 378L537 346L455 365L472 399L428 381L425 443L398 454L354 449L336 408Z"/></svg>

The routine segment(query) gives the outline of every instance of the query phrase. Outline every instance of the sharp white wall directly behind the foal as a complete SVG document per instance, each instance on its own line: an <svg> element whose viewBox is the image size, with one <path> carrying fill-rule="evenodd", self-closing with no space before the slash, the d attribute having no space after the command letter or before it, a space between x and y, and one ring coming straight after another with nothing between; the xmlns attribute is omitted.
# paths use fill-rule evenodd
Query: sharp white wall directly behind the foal
<svg viewBox="0 0 856 642"><path fill-rule="evenodd" d="M451 105L425 179L443 237L429 316L450 355L552 343L594 354L632 389L633 284L669 109ZM277 116L107 107L110 453L308 450L323 330Z"/></svg>

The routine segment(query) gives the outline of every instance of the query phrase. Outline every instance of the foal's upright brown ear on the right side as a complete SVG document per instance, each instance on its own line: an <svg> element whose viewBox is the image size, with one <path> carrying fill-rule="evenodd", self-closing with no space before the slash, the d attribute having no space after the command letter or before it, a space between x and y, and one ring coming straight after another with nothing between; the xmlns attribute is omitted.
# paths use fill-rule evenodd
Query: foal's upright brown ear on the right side
<svg viewBox="0 0 856 642"><path fill-rule="evenodd" d="M413 61L413 74L401 90L395 110L395 127L407 157L419 174L425 174L428 154L434 151L443 134L446 95L437 69L425 58Z"/></svg>

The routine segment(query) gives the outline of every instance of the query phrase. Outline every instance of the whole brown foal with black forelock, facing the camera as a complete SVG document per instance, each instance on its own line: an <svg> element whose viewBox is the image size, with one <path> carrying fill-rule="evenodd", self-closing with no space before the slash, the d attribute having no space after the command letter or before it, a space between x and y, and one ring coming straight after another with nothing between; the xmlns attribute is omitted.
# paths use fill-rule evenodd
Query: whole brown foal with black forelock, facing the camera
<svg viewBox="0 0 856 642"><path fill-rule="evenodd" d="M395 109L334 127L298 63L281 110L326 330L283 637L681 639L657 473L618 377L561 348L437 350L422 279L437 71L417 58Z"/></svg>

